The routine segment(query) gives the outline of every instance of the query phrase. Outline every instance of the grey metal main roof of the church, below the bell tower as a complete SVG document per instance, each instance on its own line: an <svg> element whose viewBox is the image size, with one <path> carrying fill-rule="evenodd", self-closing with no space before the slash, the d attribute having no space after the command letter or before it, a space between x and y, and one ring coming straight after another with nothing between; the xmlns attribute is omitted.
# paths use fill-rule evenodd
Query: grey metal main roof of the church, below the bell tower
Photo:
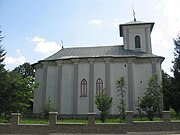
<svg viewBox="0 0 180 135"><path fill-rule="evenodd" d="M78 47L63 48L57 53L42 61L76 59L76 58L98 58L98 57L160 57L145 52L137 52L124 49L123 45L100 46L100 47Z"/></svg>

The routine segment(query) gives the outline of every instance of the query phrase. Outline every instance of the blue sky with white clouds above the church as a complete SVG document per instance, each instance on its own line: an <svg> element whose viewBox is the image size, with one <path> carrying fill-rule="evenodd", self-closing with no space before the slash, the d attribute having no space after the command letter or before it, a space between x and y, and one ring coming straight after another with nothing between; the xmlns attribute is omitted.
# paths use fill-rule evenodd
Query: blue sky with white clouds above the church
<svg viewBox="0 0 180 135"><path fill-rule="evenodd" d="M169 75L180 32L180 0L0 0L6 69L36 63L62 48L123 45L119 24L154 22L153 54Z"/></svg>

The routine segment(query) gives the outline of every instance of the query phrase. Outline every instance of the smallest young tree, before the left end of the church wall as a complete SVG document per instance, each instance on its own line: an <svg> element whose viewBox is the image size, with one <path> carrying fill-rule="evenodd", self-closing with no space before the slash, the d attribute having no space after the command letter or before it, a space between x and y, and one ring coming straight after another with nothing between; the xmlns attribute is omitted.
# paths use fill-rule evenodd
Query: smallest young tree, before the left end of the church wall
<svg viewBox="0 0 180 135"><path fill-rule="evenodd" d="M42 112L44 114L44 118L48 119L49 112L52 112L52 111L55 111L55 107L53 106L51 98L48 97L47 102L42 107Z"/></svg>

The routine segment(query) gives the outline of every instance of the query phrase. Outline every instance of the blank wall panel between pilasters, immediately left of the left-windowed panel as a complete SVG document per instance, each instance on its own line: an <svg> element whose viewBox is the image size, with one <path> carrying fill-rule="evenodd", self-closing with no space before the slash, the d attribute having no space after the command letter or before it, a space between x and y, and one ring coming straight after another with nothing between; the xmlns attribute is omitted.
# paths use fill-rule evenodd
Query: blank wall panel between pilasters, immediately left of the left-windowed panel
<svg viewBox="0 0 180 135"><path fill-rule="evenodd" d="M61 113L73 113L73 65L62 65Z"/></svg>

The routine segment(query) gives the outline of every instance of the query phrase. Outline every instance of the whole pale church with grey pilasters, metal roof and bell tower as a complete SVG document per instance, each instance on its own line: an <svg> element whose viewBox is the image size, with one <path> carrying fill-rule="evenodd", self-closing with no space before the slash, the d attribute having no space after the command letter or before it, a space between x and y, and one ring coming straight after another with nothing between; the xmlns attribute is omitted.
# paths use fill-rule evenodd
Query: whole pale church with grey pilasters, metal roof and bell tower
<svg viewBox="0 0 180 135"><path fill-rule="evenodd" d="M62 48L35 63L36 82L33 113L51 99L64 115L99 114L95 96L105 89L113 98L111 114L119 114L116 81L125 77L126 110L136 111L137 97L146 91L153 74L161 82L164 58L152 54L151 31L154 23L132 21L119 25L123 45Z"/></svg>

